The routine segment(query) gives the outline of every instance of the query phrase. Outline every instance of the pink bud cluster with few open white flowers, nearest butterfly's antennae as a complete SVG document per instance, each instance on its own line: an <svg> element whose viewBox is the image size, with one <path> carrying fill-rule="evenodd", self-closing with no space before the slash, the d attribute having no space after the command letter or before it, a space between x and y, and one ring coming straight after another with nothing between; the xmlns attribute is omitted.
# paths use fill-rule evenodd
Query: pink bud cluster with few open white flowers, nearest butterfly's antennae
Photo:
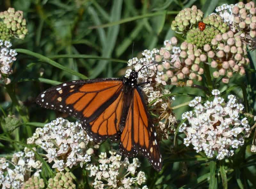
<svg viewBox="0 0 256 189"><path fill-rule="evenodd" d="M175 40L174 40L175 39ZM172 41L176 41L175 44ZM187 81L188 86L193 85L193 81L201 81L204 69L200 67L200 62L207 60L206 55L202 54L202 50L197 49L192 43L183 42L180 47L173 45L177 44L177 39L172 37L171 40L164 42L165 47L162 47L159 54L156 55L156 61L159 63L157 70L164 72L163 80L170 79L172 83L179 81Z"/></svg>

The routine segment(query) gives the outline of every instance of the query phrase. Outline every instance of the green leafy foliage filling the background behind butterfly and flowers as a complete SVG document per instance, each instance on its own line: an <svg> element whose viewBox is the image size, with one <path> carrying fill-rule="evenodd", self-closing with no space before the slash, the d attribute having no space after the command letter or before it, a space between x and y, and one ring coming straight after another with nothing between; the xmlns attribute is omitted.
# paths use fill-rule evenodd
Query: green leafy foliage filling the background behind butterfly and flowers
<svg viewBox="0 0 256 189"><path fill-rule="evenodd" d="M144 49L162 47L163 41L174 35L177 35L179 42L184 41L183 36L170 28L180 10L197 5L206 17L223 3L231 4L235 1L1 1L1 11L8 7L23 11L28 34L24 40L17 39L13 42L18 59L13 65L13 74L10 75L12 82L9 85L1 83L0 156L10 156L25 146L33 151L31 146L26 145L26 140L33 135L36 127L42 127L43 123L58 116L65 116L35 104L35 98L41 91L71 80L121 77L127 69L127 60L132 58L132 51L133 56L137 56ZM0 38L9 39L9 31L2 31L1 24L0 22L0 34L6 32L6 38ZM218 88L222 96L236 95L246 107L245 112L254 115L255 57L255 51L250 51L251 65L246 70L246 77L236 75L228 84L223 84L208 75L203 78L203 82L207 81L208 84L204 87ZM212 70L208 67L207 71ZM202 89L186 86L168 87L172 93L166 96L176 96L172 106L175 107L173 113L179 122L177 130L170 133L169 140L161 143L164 157L161 172L154 171L148 161L139 156L141 169L147 174L148 188L255 188L256 156L250 151L252 137L227 161L207 159L204 154L197 154L186 148L183 145L184 134L178 132L182 124L181 114L189 110L189 100L195 96L208 99L210 90L204 92ZM253 123L252 118L249 121ZM106 143L102 151L109 149L110 144ZM40 154L36 153L36 157L43 163L41 177L44 181L53 177L54 173L48 163ZM89 188L91 183L81 176L88 173L85 170L82 173L78 169L72 171L72 176L86 183L79 188Z"/></svg>

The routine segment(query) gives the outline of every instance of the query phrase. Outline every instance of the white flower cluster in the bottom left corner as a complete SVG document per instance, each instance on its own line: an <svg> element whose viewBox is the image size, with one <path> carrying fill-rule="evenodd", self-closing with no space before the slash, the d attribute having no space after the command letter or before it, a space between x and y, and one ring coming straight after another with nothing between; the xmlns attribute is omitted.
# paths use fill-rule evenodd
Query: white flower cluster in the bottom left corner
<svg viewBox="0 0 256 189"><path fill-rule="evenodd" d="M13 154L12 160L0 158L0 187L20 189L31 172L39 176L42 163L35 161L35 154L25 147L24 151Z"/></svg>

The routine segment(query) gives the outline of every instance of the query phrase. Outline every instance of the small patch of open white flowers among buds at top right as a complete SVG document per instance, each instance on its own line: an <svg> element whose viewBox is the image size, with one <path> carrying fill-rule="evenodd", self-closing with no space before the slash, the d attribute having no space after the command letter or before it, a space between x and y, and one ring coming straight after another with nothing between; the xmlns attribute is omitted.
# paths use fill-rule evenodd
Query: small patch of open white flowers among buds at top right
<svg viewBox="0 0 256 189"><path fill-rule="evenodd" d="M224 22L228 22L229 25L232 26L234 22L234 14L232 12L232 8L236 6L237 4L222 4L221 6L218 6L215 11L221 16L222 20Z"/></svg>

